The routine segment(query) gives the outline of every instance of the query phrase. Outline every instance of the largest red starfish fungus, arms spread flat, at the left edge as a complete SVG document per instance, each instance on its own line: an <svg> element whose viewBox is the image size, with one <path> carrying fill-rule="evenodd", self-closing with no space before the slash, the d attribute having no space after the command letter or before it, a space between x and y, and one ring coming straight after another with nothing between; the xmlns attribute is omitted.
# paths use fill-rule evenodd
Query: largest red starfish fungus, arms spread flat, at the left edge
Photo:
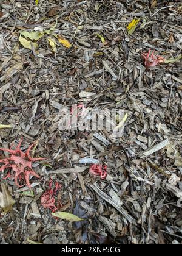
<svg viewBox="0 0 182 256"><path fill-rule="evenodd" d="M0 163L3 163L0 167L0 172L5 171L5 169L12 168L12 170L15 172L13 178L15 180L15 184L18 187L23 187L24 185L19 185L21 180L25 180L25 183L27 186L31 189L29 178L30 176L35 176L37 178L40 178L38 174L35 173L32 169L32 162L38 161L38 160L44 160L44 158L32 158L30 156L30 150L35 144L32 144L27 149L27 152L21 151L21 143L22 138L19 141L19 144L15 150L12 148L10 149L4 149L0 148L2 151L6 151L10 153L9 158L4 158L0 160ZM8 177L11 177L10 172L8 172L7 176L4 177L4 179L7 179Z"/></svg>

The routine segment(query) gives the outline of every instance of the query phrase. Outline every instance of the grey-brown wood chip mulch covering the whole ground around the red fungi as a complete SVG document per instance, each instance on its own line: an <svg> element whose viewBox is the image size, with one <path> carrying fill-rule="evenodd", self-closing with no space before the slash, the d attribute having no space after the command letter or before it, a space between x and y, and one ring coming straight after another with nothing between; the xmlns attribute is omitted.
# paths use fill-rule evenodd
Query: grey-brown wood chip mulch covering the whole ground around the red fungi
<svg viewBox="0 0 182 256"><path fill-rule="evenodd" d="M35 143L31 157L45 159L27 187L2 168L1 243L181 243L181 10L180 1L1 1L0 146L22 138L22 152ZM124 110L123 136L59 131L72 105ZM46 191L59 218L41 205Z"/></svg>

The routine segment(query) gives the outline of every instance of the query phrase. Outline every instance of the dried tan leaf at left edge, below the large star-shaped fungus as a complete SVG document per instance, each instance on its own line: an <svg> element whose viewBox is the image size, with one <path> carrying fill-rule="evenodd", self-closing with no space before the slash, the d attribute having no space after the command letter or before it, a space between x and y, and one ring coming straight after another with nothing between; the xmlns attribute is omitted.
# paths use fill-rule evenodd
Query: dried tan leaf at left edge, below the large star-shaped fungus
<svg viewBox="0 0 182 256"><path fill-rule="evenodd" d="M1 184L2 193L0 193L0 207L7 213L12 210L12 206L15 204L15 200L12 198L10 191L4 183Z"/></svg>

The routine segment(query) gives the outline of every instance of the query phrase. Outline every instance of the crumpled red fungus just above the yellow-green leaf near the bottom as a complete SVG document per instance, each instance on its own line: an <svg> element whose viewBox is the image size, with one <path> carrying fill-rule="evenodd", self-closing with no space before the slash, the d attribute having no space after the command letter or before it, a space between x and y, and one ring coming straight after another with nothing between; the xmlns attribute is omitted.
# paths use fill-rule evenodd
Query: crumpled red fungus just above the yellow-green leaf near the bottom
<svg viewBox="0 0 182 256"><path fill-rule="evenodd" d="M56 212L56 210L58 210L58 208L55 205L56 200L54 196L56 195L56 192L61 188L61 185L58 182L56 182L54 189L52 189L52 185L53 181L50 180L49 190L45 191L45 193L41 197L41 205L44 208L49 208L54 213Z"/></svg>

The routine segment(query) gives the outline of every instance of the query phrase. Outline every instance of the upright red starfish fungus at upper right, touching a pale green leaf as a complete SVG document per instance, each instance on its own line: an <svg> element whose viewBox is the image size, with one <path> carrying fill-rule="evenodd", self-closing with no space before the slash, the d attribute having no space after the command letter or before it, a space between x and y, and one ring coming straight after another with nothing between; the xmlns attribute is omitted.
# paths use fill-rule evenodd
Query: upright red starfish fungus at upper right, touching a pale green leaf
<svg viewBox="0 0 182 256"><path fill-rule="evenodd" d="M143 57L145 59L145 66L146 66L147 69L152 68L154 66L157 66L158 63L163 63L164 62L163 57L160 57L158 55L157 56L154 55L155 51L152 52L151 56L150 56L150 52L151 52L151 49L149 50L148 53L143 54Z"/></svg>

